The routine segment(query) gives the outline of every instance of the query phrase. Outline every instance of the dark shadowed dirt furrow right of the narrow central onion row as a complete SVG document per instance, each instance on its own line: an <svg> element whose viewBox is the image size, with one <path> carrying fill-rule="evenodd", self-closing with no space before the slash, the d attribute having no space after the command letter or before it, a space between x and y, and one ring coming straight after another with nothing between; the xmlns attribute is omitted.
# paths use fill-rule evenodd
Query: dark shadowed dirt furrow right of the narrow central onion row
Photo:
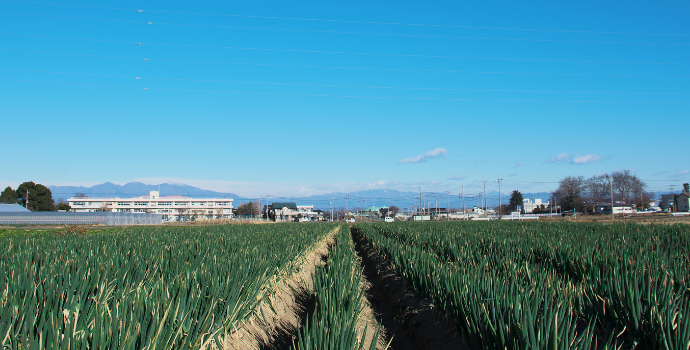
<svg viewBox="0 0 690 350"><path fill-rule="evenodd" d="M364 264L369 304L384 327L390 348L469 349L455 326L428 299L416 295L402 277L355 230L357 254Z"/></svg>

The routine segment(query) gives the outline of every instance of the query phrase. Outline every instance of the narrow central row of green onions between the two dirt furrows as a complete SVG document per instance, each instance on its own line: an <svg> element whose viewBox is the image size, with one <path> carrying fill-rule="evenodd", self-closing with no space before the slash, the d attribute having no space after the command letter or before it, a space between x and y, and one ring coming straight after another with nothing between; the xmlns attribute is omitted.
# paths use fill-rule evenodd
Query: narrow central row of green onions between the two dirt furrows
<svg viewBox="0 0 690 350"><path fill-rule="evenodd" d="M380 326L365 329L361 336L357 327L362 317L364 288L362 268L355 254L350 228L341 226L326 266L313 275L314 313L300 329L293 349L363 350L362 339L368 332L374 332L369 349L376 348Z"/></svg>

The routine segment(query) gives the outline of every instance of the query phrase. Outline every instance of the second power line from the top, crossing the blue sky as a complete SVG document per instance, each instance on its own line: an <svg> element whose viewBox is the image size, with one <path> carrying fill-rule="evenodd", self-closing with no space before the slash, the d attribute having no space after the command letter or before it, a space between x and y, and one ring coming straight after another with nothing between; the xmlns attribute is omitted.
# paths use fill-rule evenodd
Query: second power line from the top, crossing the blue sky
<svg viewBox="0 0 690 350"><path fill-rule="evenodd" d="M250 30L270 30L283 32L303 32L303 33L325 33L325 34L356 34L356 35L378 35L378 36L401 36L401 37L418 37L418 38L439 38L439 39L470 39L470 40L503 40L503 41L531 41L531 42L554 42L554 43L575 43L575 44L622 44L622 45L665 45L665 46L690 46L690 44L680 43L640 43L640 42L625 42L625 41L591 41L591 40L561 40L561 39L525 39L525 38L493 38L493 37L476 37L476 36L452 36L452 35L427 35L427 34L400 34L400 33L373 33L373 32L349 32L349 31L335 31L335 30L314 30L314 29L294 29L294 28L270 28L270 27L247 27L247 26L225 26L225 25L211 25L211 24L191 24L191 23L166 23L166 22L146 22L146 21L131 21L122 19L107 19L107 18L90 18L90 17L73 17L73 16L59 16L46 15L38 13L17 13L17 12L0 12L9 15L21 16L37 16L37 17L52 17L65 19L79 19L79 20L93 20L106 22L122 22L134 23L144 25L172 25L172 26L188 26L188 27L206 27L206 28L226 28L226 29L250 29Z"/></svg>

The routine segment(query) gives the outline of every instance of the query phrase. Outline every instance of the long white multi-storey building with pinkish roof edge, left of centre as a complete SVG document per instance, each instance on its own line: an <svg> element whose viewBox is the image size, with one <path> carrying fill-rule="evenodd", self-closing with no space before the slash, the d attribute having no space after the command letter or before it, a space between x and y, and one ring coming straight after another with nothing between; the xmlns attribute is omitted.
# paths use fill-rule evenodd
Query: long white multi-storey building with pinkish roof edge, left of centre
<svg viewBox="0 0 690 350"><path fill-rule="evenodd" d="M201 218L229 219L232 198L160 197L158 191L134 198L70 198L74 212L112 211L118 213L156 213L165 221L188 221Z"/></svg>

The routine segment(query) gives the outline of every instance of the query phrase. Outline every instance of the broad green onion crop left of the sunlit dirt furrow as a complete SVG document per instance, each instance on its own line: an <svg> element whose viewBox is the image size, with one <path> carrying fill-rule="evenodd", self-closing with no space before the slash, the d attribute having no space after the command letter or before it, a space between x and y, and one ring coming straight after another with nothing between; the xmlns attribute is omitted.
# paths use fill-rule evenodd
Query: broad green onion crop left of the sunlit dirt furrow
<svg viewBox="0 0 690 350"><path fill-rule="evenodd" d="M8 349L200 349L257 312L333 225L0 237Z"/></svg>

